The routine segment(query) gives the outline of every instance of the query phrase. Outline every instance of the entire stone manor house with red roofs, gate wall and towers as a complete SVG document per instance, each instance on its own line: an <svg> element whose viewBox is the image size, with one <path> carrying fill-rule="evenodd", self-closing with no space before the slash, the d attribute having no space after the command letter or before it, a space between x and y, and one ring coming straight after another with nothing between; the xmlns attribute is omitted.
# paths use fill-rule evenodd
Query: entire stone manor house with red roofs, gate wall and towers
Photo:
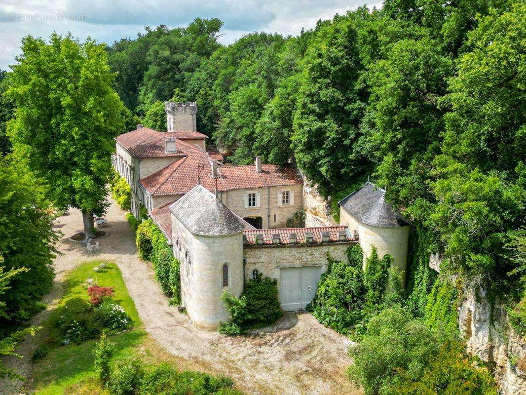
<svg viewBox="0 0 526 395"><path fill-rule="evenodd" d="M259 273L278 281L286 311L305 309L327 269L327 253L345 260L350 245L366 255L375 246L406 270L409 226L371 183L340 202L340 223L286 228L311 202L295 167L232 166L197 131L194 102L165 103L167 131L137 125L116 137L115 169L131 189L131 211L141 206L181 262L181 297L200 328L229 319L220 297L238 297Z"/></svg>

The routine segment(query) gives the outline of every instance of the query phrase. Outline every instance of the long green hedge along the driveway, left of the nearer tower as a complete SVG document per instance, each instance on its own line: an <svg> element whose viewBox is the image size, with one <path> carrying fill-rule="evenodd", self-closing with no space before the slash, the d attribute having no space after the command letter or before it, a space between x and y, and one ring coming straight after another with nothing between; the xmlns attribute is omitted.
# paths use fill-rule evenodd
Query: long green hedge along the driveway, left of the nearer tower
<svg viewBox="0 0 526 395"><path fill-rule="evenodd" d="M152 220L144 221L136 232L137 253L142 260L149 260L163 292L173 303L181 302L180 262L175 258L166 237Z"/></svg>

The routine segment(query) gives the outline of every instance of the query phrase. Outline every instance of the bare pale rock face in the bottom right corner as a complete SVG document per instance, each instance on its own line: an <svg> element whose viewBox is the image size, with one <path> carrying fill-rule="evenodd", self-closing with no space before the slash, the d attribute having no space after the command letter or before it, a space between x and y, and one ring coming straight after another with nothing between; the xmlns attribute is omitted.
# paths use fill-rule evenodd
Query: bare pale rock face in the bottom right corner
<svg viewBox="0 0 526 395"><path fill-rule="evenodd" d="M467 351L494 370L501 395L526 394L526 341L508 324L505 309L491 308L483 289L464 288L459 330ZM492 315L493 313L493 315Z"/></svg>

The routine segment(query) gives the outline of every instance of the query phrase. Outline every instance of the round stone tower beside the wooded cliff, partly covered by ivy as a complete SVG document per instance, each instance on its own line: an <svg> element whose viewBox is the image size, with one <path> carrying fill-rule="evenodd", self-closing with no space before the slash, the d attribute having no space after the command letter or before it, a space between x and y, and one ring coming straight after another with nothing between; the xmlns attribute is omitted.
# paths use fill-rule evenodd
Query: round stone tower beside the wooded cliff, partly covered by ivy
<svg viewBox="0 0 526 395"><path fill-rule="evenodd" d="M349 226L350 232L358 236L365 256L370 256L376 247L380 258L392 255L393 266L406 273L409 226L385 200L385 194L385 190L367 182L344 197L339 202L340 224Z"/></svg>

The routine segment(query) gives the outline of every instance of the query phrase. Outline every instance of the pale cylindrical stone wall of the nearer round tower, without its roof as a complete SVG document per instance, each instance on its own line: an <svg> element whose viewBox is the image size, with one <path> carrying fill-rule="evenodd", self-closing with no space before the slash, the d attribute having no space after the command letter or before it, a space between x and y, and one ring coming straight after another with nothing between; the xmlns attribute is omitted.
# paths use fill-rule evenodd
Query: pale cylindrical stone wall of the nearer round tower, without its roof
<svg viewBox="0 0 526 395"><path fill-rule="evenodd" d="M216 330L230 320L221 301L224 291L239 297L243 290L242 232L203 236L190 232L171 215L172 246L181 262L181 298L189 317L201 329ZM228 265L228 286L223 287L223 265Z"/></svg>

